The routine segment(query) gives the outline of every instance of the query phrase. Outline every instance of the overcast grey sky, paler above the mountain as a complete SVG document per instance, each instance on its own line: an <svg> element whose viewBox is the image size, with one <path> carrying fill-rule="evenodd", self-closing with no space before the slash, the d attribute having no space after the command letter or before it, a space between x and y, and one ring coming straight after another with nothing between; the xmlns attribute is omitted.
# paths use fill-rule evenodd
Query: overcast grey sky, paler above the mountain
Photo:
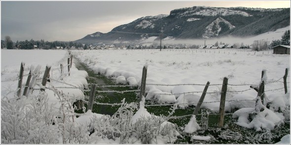
<svg viewBox="0 0 291 145"><path fill-rule="evenodd" d="M95 32L108 33L144 16L170 14L192 7L286 8L290 0L273 1L2 1L1 40L74 41Z"/></svg>

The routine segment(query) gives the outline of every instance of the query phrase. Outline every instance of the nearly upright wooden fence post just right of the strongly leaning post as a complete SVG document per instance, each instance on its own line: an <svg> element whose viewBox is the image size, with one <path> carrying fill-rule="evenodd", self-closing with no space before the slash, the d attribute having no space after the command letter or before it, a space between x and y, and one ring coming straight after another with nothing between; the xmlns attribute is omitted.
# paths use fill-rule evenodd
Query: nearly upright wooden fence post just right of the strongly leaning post
<svg viewBox="0 0 291 145"><path fill-rule="evenodd" d="M221 128L223 126L224 119L224 106L225 106L225 97L227 91L227 83L228 78L223 78L222 88L221 88L221 97L220 97L220 106L219 106L219 116L218 116L218 127Z"/></svg>

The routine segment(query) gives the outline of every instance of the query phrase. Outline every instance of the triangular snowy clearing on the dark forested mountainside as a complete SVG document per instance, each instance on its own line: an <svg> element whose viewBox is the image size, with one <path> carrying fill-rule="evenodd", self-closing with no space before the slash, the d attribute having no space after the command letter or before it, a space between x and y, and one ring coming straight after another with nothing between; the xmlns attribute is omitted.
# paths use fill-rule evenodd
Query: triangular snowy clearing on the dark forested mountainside
<svg viewBox="0 0 291 145"><path fill-rule="evenodd" d="M206 31L202 35L203 38L211 38L219 35L219 32L221 31L222 25L221 23L224 23L228 26L228 28L223 28L223 29L233 29L235 26L231 25L228 21L224 20L221 17L218 17L215 21L213 21L211 24L209 24L206 27Z"/></svg>

